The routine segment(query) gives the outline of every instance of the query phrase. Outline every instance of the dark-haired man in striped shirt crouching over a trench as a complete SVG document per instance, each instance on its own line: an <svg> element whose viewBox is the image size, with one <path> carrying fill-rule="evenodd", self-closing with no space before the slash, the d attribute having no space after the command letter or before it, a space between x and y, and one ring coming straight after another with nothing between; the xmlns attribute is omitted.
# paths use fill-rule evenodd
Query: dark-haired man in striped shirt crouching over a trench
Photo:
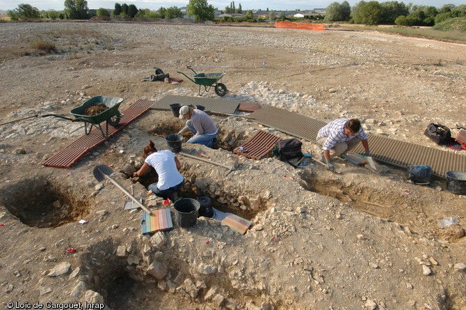
<svg viewBox="0 0 466 310"><path fill-rule="evenodd" d="M322 146L322 160L327 163L330 171L335 171L332 157L338 157L352 150L361 142L364 146L364 156L370 156L367 135L357 118L337 118L323 126L317 133L317 143Z"/></svg>

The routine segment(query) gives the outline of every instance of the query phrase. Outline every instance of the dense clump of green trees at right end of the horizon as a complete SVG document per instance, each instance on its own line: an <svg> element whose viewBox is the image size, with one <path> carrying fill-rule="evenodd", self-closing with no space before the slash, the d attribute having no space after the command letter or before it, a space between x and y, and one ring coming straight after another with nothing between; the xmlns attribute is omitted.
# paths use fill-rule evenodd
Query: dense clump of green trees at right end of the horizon
<svg viewBox="0 0 466 310"><path fill-rule="evenodd" d="M466 5L445 4L435 6L406 5L398 1L360 1L353 8L348 1L334 2L326 8L324 22L350 22L353 24L398 26L434 26L454 17L466 17Z"/></svg>

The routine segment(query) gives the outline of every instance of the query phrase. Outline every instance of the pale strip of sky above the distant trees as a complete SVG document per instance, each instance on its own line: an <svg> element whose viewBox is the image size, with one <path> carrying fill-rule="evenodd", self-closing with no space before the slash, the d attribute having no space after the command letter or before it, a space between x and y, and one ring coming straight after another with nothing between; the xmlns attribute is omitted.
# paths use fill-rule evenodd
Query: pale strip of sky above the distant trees
<svg viewBox="0 0 466 310"><path fill-rule="evenodd" d="M303 1L303 0L291 0L291 1L278 1L278 0L247 0L247 1L234 1L235 7L238 8L241 3L243 10L312 10L314 8L326 8L333 2L342 3L344 0L316 0L316 1ZM355 6L360 0L346 0L350 6ZM366 0L368 1L368 0ZM392 1L383 0L379 2ZM422 6L435 6L441 8L444 4L454 4L460 6L466 4L466 0L411 0L403 1L405 4L412 3L415 5ZM0 0L0 10L14 10L19 4L26 3L31 6L38 8L38 10L63 10L65 8L65 0ZM158 10L159 8L170 8L170 6L176 6L182 8L189 3L189 0L127 0L127 1L111 1L111 0L88 0L88 8L115 8L115 3L127 3L134 4L136 8L148 8L150 10ZM207 0L207 3L224 10L227 6L230 6L230 0Z"/></svg>

